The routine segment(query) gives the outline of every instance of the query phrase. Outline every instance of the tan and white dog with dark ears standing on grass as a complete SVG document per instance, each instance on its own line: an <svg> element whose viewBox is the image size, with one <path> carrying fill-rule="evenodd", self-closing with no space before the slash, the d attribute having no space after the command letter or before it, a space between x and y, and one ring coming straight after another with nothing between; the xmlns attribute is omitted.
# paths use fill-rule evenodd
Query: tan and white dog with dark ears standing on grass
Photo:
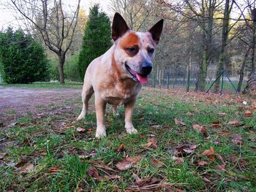
<svg viewBox="0 0 256 192"><path fill-rule="evenodd" d="M124 104L127 134L138 131L132 125L132 113L141 84L148 82L164 20L159 20L146 32L132 31L116 12L112 24L113 45L103 55L91 61L84 77L83 109L77 120L86 116L89 99L95 95L97 117L96 137L105 137L105 109L111 104L113 113Z"/></svg>

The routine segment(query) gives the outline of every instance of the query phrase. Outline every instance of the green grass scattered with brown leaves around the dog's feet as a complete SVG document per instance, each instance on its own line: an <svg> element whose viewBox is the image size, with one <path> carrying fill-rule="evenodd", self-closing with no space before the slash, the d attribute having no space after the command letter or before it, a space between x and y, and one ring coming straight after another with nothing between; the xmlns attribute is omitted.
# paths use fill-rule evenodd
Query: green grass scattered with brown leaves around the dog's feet
<svg viewBox="0 0 256 192"><path fill-rule="evenodd" d="M39 87L60 88L52 83L45 83L42 87L36 85L36 88ZM162 190L254 191L256 112L246 118L238 99L236 96L225 98L143 88L133 118L139 134L125 133L124 108L119 107L120 117L111 115L108 110L105 118L108 137L103 139L94 139L96 117L92 111L85 120L72 124L80 107L74 107L73 113L40 118L25 115L18 119L15 126L1 128L1 138L7 140L2 142L4 147L0 155L0 191L125 191L138 185L132 174L137 174L142 180L158 178L160 184L169 184L158 184ZM246 97L242 99L254 104ZM56 106L75 104L80 104L80 98ZM219 117L219 112L226 115ZM9 110L7 114L15 115L15 112ZM177 125L175 118L184 122L185 126ZM235 118L239 120L239 125L228 125ZM220 127L212 127L211 123L217 120ZM204 126L208 135L196 132L192 128L194 123ZM78 127L85 128L85 131L77 131ZM229 134L225 135L222 131ZM234 142L230 137L232 134L241 136L242 143ZM157 148L145 147L151 137L157 139ZM195 151L181 153L178 157L183 158L184 163L176 164L173 155L178 145L192 144L196 145ZM124 151L118 152L120 145L124 145ZM214 161L202 154L210 147L214 147ZM92 151L95 154L91 157L79 157ZM124 157L138 155L142 158L130 169L117 169L116 164ZM225 162L225 172L216 169L216 166L223 164L217 155ZM154 164L152 158L162 163ZM198 161L206 161L207 164L199 166ZM18 163L24 165L18 166ZM31 164L32 169L26 170ZM106 174L119 177L98 181L97 177L88 173L91 166L102 177ZM137 189L140 191L138 186Z"/></svg>

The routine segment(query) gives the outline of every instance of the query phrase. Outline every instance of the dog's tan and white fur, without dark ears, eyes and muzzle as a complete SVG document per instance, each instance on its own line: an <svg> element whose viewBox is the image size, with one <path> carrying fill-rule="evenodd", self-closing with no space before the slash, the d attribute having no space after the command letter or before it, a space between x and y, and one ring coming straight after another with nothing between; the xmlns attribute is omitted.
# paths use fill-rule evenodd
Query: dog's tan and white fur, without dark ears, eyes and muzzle
<svg viewBox="0 0 256 192"><path fill-rule="evenodd" d="M135 55L127 53L127 47L138 46L139 52ZM116 106L124 104L125 128L127 133L137 133L132 125L132 112L135 107L136 97L140 92L141 84L132 80L124 63L138 69L143 60L153 62L154 54L148 55L148 47L157 44L149 32L139 33L127 31L122 37L116 39L113 46L99 58L89 64L84 77L82 100L83 110L77 120L85 117L88 110L88 101L95 94L95 109L97 115L96 137L104 137L105 107L113 105L113 112L117 113Z"/></svg>

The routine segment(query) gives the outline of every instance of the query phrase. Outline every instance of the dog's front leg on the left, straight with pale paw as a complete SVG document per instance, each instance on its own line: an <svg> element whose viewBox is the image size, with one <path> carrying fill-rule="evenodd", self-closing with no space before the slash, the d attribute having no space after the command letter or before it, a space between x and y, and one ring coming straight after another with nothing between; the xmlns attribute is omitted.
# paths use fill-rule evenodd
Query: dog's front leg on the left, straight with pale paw
<svg viewBox="0 0 256 192"><path fill-rule="evenodd" d="M100 96L95 94L95 110L97 118L97 129L96 129L96 138L106 136L105 128L105 110L106 110L106 101L104 101Z"/></svg>

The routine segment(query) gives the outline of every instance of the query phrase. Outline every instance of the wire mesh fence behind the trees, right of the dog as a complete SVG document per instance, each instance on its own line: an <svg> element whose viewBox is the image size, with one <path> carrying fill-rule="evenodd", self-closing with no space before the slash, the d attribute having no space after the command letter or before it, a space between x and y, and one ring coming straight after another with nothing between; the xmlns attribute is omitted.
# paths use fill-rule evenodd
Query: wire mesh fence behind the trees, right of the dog
<svg viewBox="0 0 256 192"><path fill-rule="evenodd" d="M214 85L211 85L216 80L216 69L209 68L207 70L206 77L206 89L209 93L214 93ZM222 88L222 94L236 94L239 82L239 74L236 73L227 73L223 76L223 85L222 85L222 77L220 77L220 89ZM159 70L152 72L148 83L145 86L153 87L153 88L165 88L165 89L178 89L181 91L196 91L196 83L197 77L199 74L198 67L192 67L189 72L189 68L186 66L178 66L178 67L169 67L165 69L164 72L160 72ZM246 76L246 75L245 75ZM246 86L247 77L244 77L241 91L244 90ZM232 82L232 83L231 83ZM232 85L233 84L233 85ZM209 89L211 87L211 89ZM209 89L209 90L208 90Z"/></svg>

